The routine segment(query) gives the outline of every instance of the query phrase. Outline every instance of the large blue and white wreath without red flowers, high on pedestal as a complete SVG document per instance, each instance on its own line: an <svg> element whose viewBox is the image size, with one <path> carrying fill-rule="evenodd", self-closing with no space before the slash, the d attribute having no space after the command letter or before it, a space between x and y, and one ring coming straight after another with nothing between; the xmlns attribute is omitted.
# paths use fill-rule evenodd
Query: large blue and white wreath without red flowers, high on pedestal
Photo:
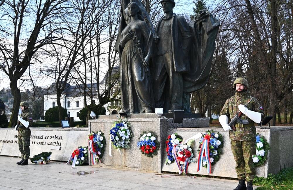
<svg viewBox="0 0 293 190"><path fill-rule="evenodd" d="M119 120L113 123L110 130L110 139L114 148L129 148L132 138L131 125L127 119Z"/></svg>

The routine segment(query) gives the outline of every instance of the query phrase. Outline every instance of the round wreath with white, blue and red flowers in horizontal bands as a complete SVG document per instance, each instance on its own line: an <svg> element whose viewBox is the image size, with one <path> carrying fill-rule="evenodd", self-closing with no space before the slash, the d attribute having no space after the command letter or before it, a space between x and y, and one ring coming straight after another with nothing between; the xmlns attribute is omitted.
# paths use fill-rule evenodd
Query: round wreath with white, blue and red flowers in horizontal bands
<svg viewBox="0 0 293 190"><path fill-rule="evenodd" d="M156 136L154 132L142 132L140 135L139 141L137 142L137 147L140 148L142 154L147 155L148 157L152 157L156 155L158 152L158 148L160 143L156 141Z"/></svg>

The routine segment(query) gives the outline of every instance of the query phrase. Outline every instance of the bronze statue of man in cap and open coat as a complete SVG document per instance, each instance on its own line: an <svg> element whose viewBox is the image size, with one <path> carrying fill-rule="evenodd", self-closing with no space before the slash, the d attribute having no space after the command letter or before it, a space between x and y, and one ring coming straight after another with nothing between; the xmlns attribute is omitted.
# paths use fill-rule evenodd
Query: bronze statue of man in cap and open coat
<svg viewBox="0 0 293 190"><path fill-rule="evenodd" d="M159 20L154 36L153 89L156 108L173 113L182 110L182 75L190 70L192 36L185 18L173 13L174 0L162 0L161 4L165 16Z"/></svg>

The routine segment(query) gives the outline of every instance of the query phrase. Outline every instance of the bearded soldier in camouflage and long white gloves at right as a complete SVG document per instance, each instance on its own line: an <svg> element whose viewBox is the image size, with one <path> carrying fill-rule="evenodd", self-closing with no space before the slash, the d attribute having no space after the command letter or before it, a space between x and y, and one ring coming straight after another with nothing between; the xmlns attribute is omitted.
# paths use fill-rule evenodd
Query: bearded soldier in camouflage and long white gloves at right
<svg viewBox="0 0 293 190"><path fill-rule="evenodd" d="M248 81L245 78L237 78L234 81L234 88L236 90L235 96L231 96L226 100L219 117L219 122L225 131L229 130L229 137L231 139L232 153L236 162L235 169L239 179L239 184L234 190L252 190L252 181L255 176L252 156L256 153L256 129L254 123L259 123L264 117L264 113L257 99L248 95ZM243 106L250 100L251 102L247 107ZM228 125L228 120L232 119L239 111L243 113L241 119L248 120L249 124L236 123L234 125L236 131L233 131ZM245 179L247 180L247 187Z"/></svg>

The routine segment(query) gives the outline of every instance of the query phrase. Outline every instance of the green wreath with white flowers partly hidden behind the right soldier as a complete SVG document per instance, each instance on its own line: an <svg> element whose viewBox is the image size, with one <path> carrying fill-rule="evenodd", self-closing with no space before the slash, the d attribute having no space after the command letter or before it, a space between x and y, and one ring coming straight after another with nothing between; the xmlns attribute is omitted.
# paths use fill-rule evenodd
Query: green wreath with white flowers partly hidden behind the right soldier
<svg viewBox="0 0 293 190"><path fill-rule="evenodd" d="M255 149L256 154L252 156L253 163L256 167L264 165L265 161L268 159L268 151L270 150L270 144L260 134L256 134L255 136Z"/></svg>

